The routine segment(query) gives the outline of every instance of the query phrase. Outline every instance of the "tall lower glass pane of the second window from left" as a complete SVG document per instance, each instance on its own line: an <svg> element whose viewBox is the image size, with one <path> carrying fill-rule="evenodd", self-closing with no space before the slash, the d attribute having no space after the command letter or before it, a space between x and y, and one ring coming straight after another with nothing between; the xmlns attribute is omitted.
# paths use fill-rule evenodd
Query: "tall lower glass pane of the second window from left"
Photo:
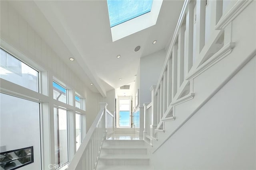
<svg viewBox="0 0 256 170"><path fill-rule="evenodd" d="M68 162L68 117L67 111L54 107L55 164L58 167Z"/></svg>

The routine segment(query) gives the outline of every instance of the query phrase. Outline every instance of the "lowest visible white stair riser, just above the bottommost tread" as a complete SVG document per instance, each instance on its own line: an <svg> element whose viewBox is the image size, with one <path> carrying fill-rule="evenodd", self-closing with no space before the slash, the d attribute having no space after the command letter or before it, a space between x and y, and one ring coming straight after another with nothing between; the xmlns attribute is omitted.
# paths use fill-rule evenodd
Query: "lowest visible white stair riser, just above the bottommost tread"
<svg viewBox="0 0 256 170"><path fill-rule="evenodd" d="M100 159L99 165L149 165L149 159Z"/></svg>

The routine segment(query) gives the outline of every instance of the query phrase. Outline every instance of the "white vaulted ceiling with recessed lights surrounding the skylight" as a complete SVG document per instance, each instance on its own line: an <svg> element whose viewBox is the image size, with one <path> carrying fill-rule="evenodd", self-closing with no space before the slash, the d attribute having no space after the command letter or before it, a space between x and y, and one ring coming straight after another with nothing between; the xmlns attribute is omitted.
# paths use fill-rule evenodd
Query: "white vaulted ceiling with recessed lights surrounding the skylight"
<svg viewBox="0 0 256 170"><path fill-rule="evenodd" d="M166 48L183 2L163 0L156 25L114 42L106 0L10 3L66 64L88 82L88 88L106 96L108 90L135 80L140 57ZM155 39L157 43L153 45ZM138 45L141 49L135 52ZM120 59L117 55L121 55ZM74 57L75 63L70 64L69 57ZM90 86L91 82L94 86Z"/></svg>

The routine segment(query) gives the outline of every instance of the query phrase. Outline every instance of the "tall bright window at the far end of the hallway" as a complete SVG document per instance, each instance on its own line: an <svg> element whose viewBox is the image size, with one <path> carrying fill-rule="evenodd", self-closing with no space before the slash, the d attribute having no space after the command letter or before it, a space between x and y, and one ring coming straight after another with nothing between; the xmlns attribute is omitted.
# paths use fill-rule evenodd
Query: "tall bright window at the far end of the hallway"
<svg viewBox="0 0 256 170"><path fill-rule="evenodd" d="M130 127L130 100L119 100L119 125L120 127Z"/></svg>

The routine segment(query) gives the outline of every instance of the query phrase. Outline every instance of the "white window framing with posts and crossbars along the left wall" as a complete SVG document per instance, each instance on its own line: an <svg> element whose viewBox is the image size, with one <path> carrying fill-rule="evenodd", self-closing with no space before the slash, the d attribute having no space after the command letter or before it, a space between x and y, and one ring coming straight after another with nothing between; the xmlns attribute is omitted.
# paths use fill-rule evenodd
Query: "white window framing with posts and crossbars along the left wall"
<svg viewBox="0 0 256 170"><path fill-rule="evenodd" d="M86 111L85 111L85 98L81 95L79 97L81 98L81 109L78 109L74 105L74 96L75 96L75 88L72 86L66 86L68 85L67 81L59 81L58 78L56 78L56 74L51 70L50 68L44 68L42 67L42 63L35 63L32 61L27 55L24 55L20 50L16 49L6 41L1 39L1 45L0 48L21 61L22 63L26 64L30 68L36 70L38 72L38 84L37 84L37 92L30 90L28 88L25 88L23 86L20 86L18 84L15 84L13 82L9 82L7 80L4 80L0 78L1 86L0 86L0 92L4 94L8 94L11 96L15 96L18 98L23 98L25 100L30 100L33 102L39 103L39 113L40 113L40 169L46 169L48 168L49 164L54 162L54 157L49 157L48 155L54 154L55 150L54 148L51 148L51 146L54 146L54 140L51 140L51 138L54 136L54 107L59 107L60 109L66 109L67 110L67 123L68 123L68 162L63 165L62 167L59 167L57 169L62 169L64 167L67 168L68 163L70 163L70 160L72 160L74 153L76 152L76 148L74 145L74 142L76 138L74 137L74 127L75 125L75 119L72 118L75 116L76 112L79 112L81 114L81 131L82 131L82 139L86 135ZM67 103L60 102L58 100L53 99L53 84L52 82L56 82L60 86L64 87L66 91L66 100ZM67 84L66 84L67 82ZM50 145L49 144L50 141Z"/></svg>

